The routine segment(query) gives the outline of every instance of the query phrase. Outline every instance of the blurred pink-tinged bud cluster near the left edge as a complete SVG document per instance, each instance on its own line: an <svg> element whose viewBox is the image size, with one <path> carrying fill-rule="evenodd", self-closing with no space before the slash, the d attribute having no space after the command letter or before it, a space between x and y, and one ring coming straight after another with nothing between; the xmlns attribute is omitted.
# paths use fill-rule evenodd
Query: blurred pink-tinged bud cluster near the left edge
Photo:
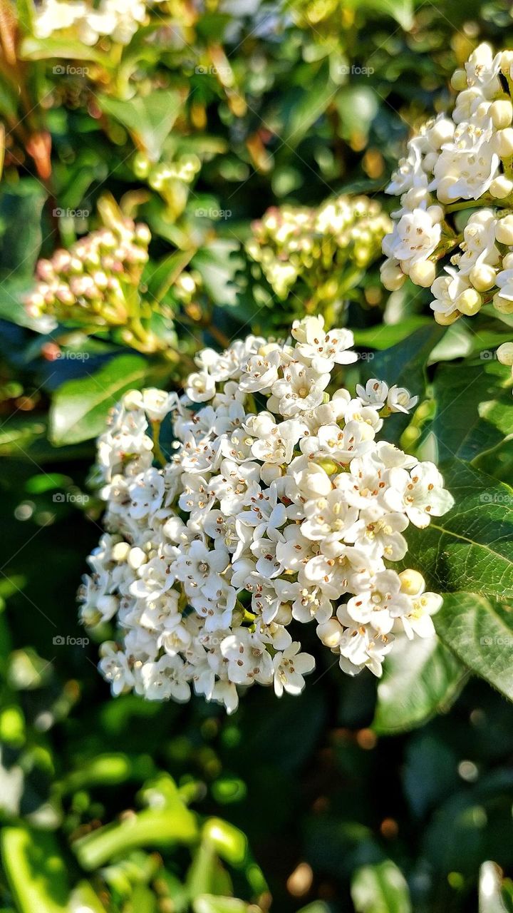
<svg viewBox="0 0 513 913"><path fill-rule="evenodd" d="M68 250L37 263L37 286L26 296L26 310L62 322L123 326L133 316L133 299L148 260L150 229L131 219L100 228Z"/></svg>

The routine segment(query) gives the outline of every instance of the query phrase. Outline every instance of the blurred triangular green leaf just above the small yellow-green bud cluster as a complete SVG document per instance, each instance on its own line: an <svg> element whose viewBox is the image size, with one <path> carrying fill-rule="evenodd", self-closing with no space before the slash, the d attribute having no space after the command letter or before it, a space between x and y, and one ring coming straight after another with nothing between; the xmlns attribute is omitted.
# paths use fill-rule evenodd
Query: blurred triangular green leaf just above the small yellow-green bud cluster
<svg viewBox="0 0 513 913"><path fill-rule="evenodd" d="M136 96L128 101L99 97L101 109L127 128L136 146L153 162L160 158L182 104L183 93L176 89L156 89L144 98Z"/></svg>

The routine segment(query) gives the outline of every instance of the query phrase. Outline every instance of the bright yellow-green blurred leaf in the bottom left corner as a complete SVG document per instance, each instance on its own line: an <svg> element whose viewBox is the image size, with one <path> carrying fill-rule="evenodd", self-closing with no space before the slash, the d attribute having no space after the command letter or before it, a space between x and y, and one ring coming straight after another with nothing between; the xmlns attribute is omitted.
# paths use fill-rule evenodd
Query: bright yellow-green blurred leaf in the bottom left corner
<svg viewBox="0 0 513 913"><path fill-rule="evenodd" d="M6 827L2 862L20 913L66 913L68 876L53 834Z"/></svg>

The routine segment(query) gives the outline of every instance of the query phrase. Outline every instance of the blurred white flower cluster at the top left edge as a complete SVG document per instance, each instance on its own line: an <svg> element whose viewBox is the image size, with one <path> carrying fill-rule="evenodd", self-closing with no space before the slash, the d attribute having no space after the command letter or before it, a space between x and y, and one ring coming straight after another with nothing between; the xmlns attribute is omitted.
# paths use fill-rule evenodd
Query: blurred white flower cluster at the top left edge
<svg viewBox="0 0 513 913"><path fill-rule="evenodd" d="M152 0L159 2L159 0ZM49 38L54 32L73 30L85 45L96 45L100 37L128 45L143 25L147 0L100 0L95 6L87 0L43 0L34 17L34 34Z"/></svg>

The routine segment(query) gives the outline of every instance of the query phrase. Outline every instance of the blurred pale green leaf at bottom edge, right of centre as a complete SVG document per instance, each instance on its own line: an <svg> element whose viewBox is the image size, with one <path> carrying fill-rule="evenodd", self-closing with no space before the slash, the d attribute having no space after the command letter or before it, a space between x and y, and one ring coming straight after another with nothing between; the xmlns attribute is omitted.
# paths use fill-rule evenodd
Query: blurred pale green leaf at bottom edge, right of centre
<svg viewBox="0 0 513 913"><path fill-rule="evenodd" d="M410 892L401 870L387 859L361 866L351 879L356 913L411 913Z"/></svg>

